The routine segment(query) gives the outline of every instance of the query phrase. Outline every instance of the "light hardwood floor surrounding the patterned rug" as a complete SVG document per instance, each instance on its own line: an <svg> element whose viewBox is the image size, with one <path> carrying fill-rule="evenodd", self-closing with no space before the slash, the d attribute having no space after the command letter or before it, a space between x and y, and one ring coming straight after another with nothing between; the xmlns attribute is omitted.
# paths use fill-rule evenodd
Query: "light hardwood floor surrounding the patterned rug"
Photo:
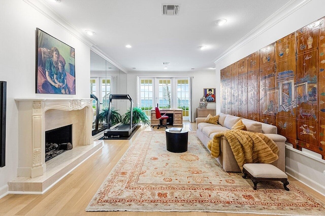
<svg viewBox="0 0 325 216"><path fill-rule="evenodd" d="M184 122L189 131L196 131L196 124ZM254 215L243 213L219 212L86 212L85 208L99 189L111 169L122 157L129 145L141 131L157 130L156 127L141 126L131 140L106 140L104 148L73 170L53 188L43 195L13 195L0 199L0 215L112 215L112 216L238 216ZM164 130L160 128L159 130ZM319 199L324 196L313 191L300 182L289 178L290 185L297 185L312 193ZM289 186L290 186L289 185ZM290 212L287 212L290 213ZM263 214L260 214L263 215Z"/></svg>

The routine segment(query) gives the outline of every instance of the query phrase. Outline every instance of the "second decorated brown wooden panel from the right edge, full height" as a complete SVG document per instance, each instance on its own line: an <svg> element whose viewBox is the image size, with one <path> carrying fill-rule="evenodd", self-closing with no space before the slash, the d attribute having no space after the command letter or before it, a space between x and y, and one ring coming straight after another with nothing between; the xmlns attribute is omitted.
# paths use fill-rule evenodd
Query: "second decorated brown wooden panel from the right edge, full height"
<svg viewBox="0 0 325 216"><path fill-rule="evenodd" d="M318 26L309 24L297 32L297 148L318 152Z"/></svg>

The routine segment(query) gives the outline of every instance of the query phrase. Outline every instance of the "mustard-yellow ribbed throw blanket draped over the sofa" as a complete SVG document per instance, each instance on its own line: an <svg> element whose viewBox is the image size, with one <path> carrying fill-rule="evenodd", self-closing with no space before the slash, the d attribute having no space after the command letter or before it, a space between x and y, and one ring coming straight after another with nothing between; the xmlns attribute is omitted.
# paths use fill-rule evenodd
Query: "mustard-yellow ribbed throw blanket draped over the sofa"
<svg viewBox="0 0 325 216"><path fill-rule="evenodd" d="M235 159L243 170L245 163L272 163L278 159L279 148L264 134L232 129L216 134L208 143L213 157L219 157L220 137L229 142Z"/></svg>

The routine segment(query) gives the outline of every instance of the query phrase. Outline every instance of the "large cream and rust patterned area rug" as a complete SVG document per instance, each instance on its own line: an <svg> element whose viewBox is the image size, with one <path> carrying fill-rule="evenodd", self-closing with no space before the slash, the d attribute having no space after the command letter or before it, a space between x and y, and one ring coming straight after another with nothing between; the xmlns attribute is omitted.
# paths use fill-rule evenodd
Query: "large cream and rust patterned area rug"
<svg viewBox="0 0 325 216"><path fill-rule="evenodd" d="M295 186L225 172L189 132L188 151L166 150L165 132L144 131L113 168L86 211L210 211L324 215L324 202Z"/></svg>

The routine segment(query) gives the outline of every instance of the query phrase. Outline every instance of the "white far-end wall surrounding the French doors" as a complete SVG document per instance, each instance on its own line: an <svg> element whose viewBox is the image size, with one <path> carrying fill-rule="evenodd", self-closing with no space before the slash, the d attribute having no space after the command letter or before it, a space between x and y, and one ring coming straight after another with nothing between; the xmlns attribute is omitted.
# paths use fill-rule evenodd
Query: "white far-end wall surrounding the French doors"
<svg viewBox="0 0 325 216"><path fill-rule="evenodd" d="M204 88L216 88L219 89L219 85L216 85L215 72L196 72L196 73L182 73L182 72L166 72L164 75L155 74L154 72L139 72L127 74L127 92L132 97L134 104L137 104L137 76L146 77L193 77L192 85L192 105L193 105L193 121L196 117L196 108L200 106L200 99L203 97ZM216 92L215 95L219 95L220 92ZM215 108L216 103L208 103L207 108Z"/></svg>

